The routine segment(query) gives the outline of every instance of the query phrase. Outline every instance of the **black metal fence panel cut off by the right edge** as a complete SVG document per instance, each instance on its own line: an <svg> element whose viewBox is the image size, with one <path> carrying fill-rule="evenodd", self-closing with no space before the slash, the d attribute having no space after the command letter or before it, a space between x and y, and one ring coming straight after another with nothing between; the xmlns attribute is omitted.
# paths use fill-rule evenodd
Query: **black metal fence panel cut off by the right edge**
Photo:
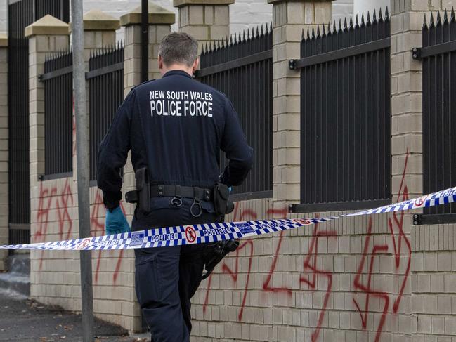
<svg viewBox="0 0 456 342"><path fill-rule="evenodd" d="M456 18L424 17L423 73L423 192L456 186ZM456 204L424 209L422 223L456 222ZM426 222L424 222L426 221Z"/></svg>

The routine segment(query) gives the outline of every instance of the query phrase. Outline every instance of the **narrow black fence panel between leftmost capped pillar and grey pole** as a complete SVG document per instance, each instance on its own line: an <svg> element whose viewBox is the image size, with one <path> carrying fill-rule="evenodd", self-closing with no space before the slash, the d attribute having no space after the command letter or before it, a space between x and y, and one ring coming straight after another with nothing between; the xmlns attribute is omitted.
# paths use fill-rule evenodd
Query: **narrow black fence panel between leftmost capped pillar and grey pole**
<svg viewBox="0 0 456 342"><path fill-rule="evenodd" d="M44 62L44 179L70 176L73 169L72 53Z"/></svg>

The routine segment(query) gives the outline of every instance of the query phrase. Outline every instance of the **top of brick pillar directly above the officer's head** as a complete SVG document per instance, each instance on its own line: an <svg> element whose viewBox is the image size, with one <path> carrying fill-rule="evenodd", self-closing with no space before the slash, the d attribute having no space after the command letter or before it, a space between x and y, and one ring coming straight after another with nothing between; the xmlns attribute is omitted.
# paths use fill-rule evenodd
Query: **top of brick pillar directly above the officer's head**
<svg viewBox="0 0 456 342"><path fill-rule="evenodd" d="M179 29L202 44L230 36L230 4L234 0L174 0Z"/></svg>

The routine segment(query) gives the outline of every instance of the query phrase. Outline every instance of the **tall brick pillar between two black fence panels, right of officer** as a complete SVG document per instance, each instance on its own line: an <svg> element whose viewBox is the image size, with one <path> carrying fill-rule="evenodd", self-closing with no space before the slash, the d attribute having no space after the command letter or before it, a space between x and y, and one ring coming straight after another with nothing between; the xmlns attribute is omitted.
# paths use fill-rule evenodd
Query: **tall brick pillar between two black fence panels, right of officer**
<svg viewBox="0 0 456 342"><path fill-rule="evenodd" d="M278 208L300 199L300 73L289 70L288 61L301 58L303 29L330 22L331 1L268 0L273 4L273 204Z"/></svg>

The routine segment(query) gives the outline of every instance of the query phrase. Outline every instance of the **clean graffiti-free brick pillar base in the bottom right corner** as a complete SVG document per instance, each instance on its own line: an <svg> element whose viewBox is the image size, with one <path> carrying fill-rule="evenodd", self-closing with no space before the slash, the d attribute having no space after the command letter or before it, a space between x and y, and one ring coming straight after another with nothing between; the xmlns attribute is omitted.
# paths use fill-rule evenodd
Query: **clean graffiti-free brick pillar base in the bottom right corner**
<svg viewBox="0 0 456 342"><path fill-rule="evenodd" d="M412 243L411 312L415 341L456 336L455 225L422 225Z"/></svg>

